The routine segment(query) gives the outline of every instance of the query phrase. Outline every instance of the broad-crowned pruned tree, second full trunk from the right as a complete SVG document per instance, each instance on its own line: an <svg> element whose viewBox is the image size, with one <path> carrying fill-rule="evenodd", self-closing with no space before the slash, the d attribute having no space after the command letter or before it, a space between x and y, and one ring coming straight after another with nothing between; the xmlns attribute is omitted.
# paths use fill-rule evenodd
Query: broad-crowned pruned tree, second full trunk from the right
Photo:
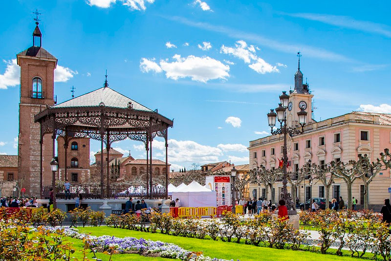
<svg viewBox="0 0 391 261"><path fill-rule="evenodd" d="M361 176L365 175L365 173L362 171L362 165L366 164L366 162L364 161L364 158L361 157L357 161L349 160L348 163L344 163L341 161L335 163L334 161L331 161L330 164L330 173L334 175L334 177L342 178L342 180L344 180L346 183L348 189L348 208L351 209L351 187L356 179L361 178Z"/></svg>

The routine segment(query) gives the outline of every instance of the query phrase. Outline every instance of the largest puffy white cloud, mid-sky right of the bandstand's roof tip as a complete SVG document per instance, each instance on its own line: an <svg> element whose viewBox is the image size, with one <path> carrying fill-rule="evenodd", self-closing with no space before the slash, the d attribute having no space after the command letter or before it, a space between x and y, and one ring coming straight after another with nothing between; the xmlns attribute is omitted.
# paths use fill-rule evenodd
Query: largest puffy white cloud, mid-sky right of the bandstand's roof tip
<svg viewBox="0 0 391 261"><path fill-rule="evenodd" d="M177 80L190 77L193 81L206 83L209 80L226 80L229 77L229 66L208 56L189 55L181 58L180 55L175 54L173 58L175 62L160 61L160 67L166 72L167 78Z"/></svg>

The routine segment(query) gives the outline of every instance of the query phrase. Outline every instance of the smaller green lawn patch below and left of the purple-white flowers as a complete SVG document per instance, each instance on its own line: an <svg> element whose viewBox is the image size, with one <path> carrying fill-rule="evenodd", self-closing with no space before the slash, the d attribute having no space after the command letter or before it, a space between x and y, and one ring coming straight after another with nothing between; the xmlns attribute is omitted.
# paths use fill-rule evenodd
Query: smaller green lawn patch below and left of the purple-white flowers
<svg viewBox="0 0 391 261"><path fill-rule="evenodd" d="M65 237L66 241L64 243L70 242L72 243L72 248L75 249L75 253L72 254L72 257L77 258L79 261L83 261L83 253L81 250L83 250L83 241L80 239L72 239ZM103 254L103 253L97 253L96 256L99 259L102 259L102 261L109 261L109 255ZM93 261L92 259L93 254L89 253L89 250L87 250L87 258L90 261ZM111 257L112 261L173 261L173 259L166 259L166 258L151 258L151 257L144 257L137 254L115 254Z"/></svg>

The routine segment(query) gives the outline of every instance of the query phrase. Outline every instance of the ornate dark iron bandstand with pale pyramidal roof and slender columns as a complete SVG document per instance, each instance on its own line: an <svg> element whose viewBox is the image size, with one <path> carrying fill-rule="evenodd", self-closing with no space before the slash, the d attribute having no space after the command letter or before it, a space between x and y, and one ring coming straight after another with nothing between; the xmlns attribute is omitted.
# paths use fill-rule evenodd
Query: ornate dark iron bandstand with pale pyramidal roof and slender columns
<svg viewBox="0 0 391 261"><path fill-rule="evenodd" d="M143 142L147 152L147 197L153 198L152 184L152 140L163 137L166 146L166 183L165 196L168 198L168 156L167 138L168 128L173 127L174 121L170 120L156 110L131 100L108 87L107 80L104 87L65 101L52 107L46 107L35 115L35 122L41 126L41 175L42 185L42 144L43 136L51 134L53 140L53 157L55 154L55 140L57 136L65 140L65 166L66 148L69 141L77 138L91 138L101 142L101 184L100 197L105 197L104 184L104 145L109 158L110 146L113 142L125 139ZM149 155L148 155L149 154ZM149 158L149 159L148 159ZM149 165L149 166L148 166ZM107 164L106 196L110 197L109 164ZM65 168L66 176L66 168Z"/></svg>

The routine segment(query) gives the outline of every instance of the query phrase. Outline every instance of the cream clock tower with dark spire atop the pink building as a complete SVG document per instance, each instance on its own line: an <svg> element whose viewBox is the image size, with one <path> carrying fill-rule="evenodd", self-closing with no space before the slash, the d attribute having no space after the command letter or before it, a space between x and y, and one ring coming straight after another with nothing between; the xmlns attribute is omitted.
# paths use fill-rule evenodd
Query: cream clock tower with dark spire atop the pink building
<svg viewBox="0 0 391 261"><path fill-rule="evenodd" d="M302 56L300 52L297 53L299 57L299 64L297 72L295 73L295 89L289 91L289 103L288 110L286 112L286 123L288 127L300 127L299 116L297 113L304 109L307 112L307 118L305 119L305 124L313 123L312 120L312 95L309 92L307 84L303 84L303 73L300 70L300 57Z"/></svg>

